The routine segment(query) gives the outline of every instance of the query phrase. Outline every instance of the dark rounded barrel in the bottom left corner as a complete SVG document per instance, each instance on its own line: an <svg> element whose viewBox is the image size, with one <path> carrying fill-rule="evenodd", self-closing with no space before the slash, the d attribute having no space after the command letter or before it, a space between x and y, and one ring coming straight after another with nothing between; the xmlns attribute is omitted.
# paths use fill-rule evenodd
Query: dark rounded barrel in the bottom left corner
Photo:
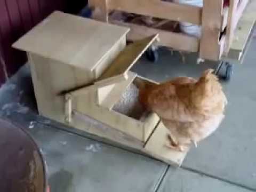
<svg viewBox="0 0 256 192"><path fill-rule="evenodd" d="M46 170L39 148L25 130L3 119L0 153L0 191L46 191Z"/></svg>

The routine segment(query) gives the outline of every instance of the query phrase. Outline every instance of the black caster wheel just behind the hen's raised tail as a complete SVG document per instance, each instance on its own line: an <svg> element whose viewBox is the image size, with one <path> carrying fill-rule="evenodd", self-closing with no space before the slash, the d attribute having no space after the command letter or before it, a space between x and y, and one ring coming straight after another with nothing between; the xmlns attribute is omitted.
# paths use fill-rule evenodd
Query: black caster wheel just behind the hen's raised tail
<svg viewBox="0 0 256 192"><path fill-rule="evenodd" d="M221 68L224 66L223 64L225 64L225 69L221 70ZM221 73L221 71L223 72ZM215 70L215 75L219 76L225 81L230 81L232 74L233 74L233 65L225 61L221 61L219 66Z"/></svg>

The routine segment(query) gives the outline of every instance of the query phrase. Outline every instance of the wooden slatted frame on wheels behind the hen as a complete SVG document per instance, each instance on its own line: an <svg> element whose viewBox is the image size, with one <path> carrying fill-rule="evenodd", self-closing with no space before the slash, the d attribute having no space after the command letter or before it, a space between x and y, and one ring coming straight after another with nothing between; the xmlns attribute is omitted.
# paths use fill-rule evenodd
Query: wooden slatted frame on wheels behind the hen
<svg viewBox="0 0 256 192"><path fill-rule="evenodd" d="M105 15L105 18L100 18L101 21L130 27L131 31L127 37L132 41L148 35L159 34L159 45L171 47L174 50L198 52L201 59L218 61L223 56L227 56L229 50L232 49L231 43L234 39L237 22L250 0L242 0L239 5L237 2L238 0L230 0L230 6L223 7L223 0L204 0L204 6L197 7L160 0L89 0L89 5L98 7ZM108 18L108 13L111 10L202 25L202 37L198 39L182 33L177 34L111 20Z"/></svg>

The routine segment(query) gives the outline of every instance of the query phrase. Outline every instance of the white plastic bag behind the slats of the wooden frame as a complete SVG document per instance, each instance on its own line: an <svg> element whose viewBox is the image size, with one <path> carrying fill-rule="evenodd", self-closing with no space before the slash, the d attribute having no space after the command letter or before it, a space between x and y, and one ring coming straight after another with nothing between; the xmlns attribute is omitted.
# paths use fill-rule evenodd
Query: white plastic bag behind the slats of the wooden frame
<svg viewBox="0 0 256 192"><path fill-rule="evenodd" d="M203 7L203 0L174 0L173 2L179 3L179 4L187 4L187 5ZM180 22L180 30L183 33L188 34L190 36L194 36L198 38L201 37L201 26L193 25L188 22Z"/></svg>

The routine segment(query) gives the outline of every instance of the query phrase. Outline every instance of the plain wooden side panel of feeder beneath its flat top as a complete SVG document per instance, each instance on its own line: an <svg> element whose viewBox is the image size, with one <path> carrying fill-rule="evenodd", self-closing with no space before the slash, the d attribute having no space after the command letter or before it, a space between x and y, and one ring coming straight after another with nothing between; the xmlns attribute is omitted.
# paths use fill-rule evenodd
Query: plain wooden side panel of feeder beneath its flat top
<svg viewBox="0 0 256 192"><path fill-rule="evenodd" d="M86 84L90 74L37 54L29 53L28 58L39 114L65 121L65 98L60 93Z"/></svg>

